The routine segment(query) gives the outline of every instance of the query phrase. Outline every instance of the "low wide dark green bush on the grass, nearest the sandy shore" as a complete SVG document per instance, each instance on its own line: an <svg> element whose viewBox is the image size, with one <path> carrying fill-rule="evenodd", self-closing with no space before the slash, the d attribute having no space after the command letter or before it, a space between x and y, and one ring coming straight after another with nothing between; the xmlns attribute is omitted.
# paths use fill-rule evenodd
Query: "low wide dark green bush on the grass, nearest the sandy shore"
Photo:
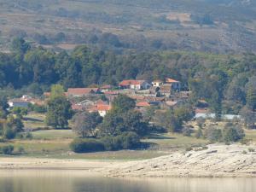
<svg viewBox="0 0 256 192"><path fill-rule="evenodd" d="M104 151L104 145L96 139L74 139L70 143L70 148L75 153L89 153Z"/></svg>

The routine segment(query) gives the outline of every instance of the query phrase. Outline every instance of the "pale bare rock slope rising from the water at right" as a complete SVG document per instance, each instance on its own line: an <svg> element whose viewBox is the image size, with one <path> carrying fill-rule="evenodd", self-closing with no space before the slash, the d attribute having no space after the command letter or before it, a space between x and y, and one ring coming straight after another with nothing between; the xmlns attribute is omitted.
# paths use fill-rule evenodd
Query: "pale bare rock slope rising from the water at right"
<svg viewBox="0 0 256 192"><path fill-rule="evenodd" d="M256 146L212 144L96 169L108 177L256 177Z"/></svg>

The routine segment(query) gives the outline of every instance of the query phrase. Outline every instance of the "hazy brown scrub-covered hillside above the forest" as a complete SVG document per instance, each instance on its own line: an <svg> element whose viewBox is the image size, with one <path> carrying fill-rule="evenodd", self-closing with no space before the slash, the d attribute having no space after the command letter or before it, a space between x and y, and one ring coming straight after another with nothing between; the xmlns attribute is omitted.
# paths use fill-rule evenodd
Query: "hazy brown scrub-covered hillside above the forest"
<svg viewBox="0 0 256 192"><path fill-rule="evenodd" d="M256 51L250 0L0 0L0 44L14 37L54 49Z"/></svg>

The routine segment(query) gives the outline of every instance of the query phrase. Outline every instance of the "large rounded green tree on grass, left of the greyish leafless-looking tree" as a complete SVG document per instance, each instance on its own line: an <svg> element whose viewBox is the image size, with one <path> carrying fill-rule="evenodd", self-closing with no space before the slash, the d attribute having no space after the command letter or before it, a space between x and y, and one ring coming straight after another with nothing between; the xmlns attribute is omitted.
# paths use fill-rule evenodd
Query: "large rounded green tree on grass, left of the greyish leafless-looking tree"
<svg viewBox="0 0 256 192"><path fill-rule="evenodd" d="M67 120L71 119L73 111L71 103L64 96L55 97L48 102L46 124L57 128L66 128Z"/></svg>

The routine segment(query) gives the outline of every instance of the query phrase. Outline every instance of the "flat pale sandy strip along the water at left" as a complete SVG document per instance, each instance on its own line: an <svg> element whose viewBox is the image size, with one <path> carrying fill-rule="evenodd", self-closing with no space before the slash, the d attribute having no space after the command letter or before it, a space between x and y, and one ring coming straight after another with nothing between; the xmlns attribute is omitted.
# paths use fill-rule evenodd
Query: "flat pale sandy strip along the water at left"
<svg viewBox="0 0 256 192"><path fill-rule="evenodd" d="M100 160L57 160L40 158L0 158L0 169L92 170L119 162Z"/></svg>

